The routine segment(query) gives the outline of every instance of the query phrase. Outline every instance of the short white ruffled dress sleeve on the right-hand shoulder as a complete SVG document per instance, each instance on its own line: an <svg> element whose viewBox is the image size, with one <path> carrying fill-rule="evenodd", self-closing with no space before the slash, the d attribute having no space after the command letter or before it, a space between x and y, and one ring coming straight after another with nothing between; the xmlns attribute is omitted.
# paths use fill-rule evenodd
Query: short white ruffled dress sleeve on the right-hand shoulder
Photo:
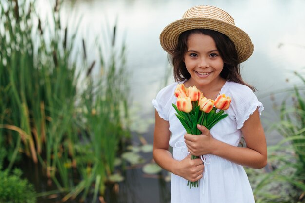
<svg viewBox="0 0 305 203"><path fill-rule="evenodd" d="M260 101L258 101L254 92L247 86L243 86L231 97L232 110L234 111L234 119L237 123L237 129L243 127L244 122L248 120L250 115L258 108L258 112L264 110L264 107Z"/></svg>

